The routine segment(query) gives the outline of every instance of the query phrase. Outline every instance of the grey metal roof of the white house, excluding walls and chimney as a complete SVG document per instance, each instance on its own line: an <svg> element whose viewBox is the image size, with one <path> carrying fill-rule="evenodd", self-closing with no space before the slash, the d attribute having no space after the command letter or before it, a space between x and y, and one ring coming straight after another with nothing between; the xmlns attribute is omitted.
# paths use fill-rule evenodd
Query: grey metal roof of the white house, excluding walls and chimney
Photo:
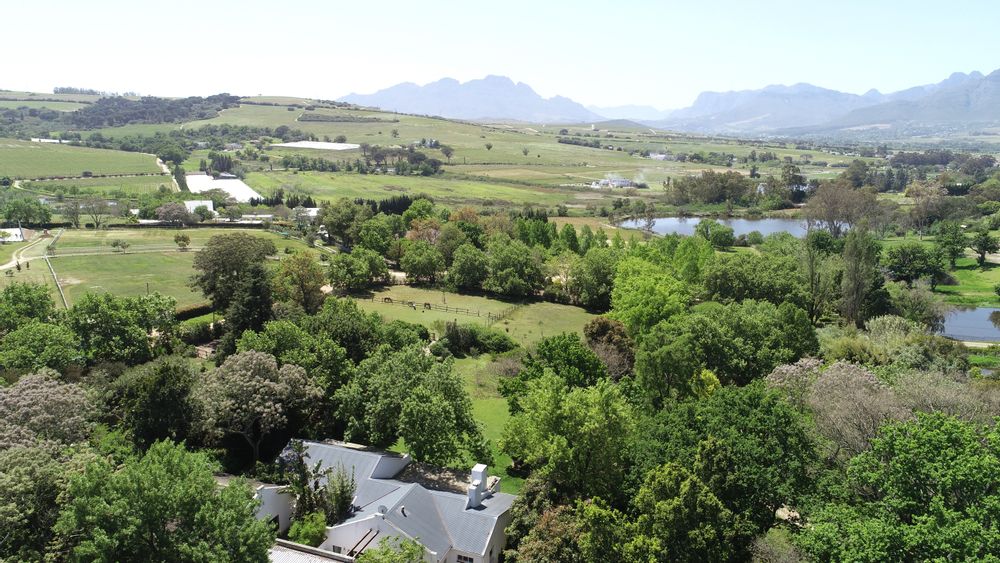
<svg viewBox="0 0 1000 563"><path fill-rule="evenodd" d="M393 475L398 474L395 466L403 467L408 458L338 444L303 444L310 462L322 460L323 467L354 468L357 484L354 504L358 510L345 523L369 518L384 507L386 520L439 555L444 555L449 548L485 555L497 519L510 510L517 498L496 493L483 499L480 506L467 509L468 499L464 494L433 491L417 483L372 477L373 472L386 474L386 467L395 471Z"/></svg>

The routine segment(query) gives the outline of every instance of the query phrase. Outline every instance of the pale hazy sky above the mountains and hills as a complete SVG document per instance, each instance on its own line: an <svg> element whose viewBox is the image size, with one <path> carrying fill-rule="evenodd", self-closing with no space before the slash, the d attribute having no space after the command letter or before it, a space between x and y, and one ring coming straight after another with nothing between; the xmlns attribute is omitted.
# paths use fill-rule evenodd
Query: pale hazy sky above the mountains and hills
<svg viewBox="0 0 1000 563"><path fill-rule="evenodd" d="M336 98L449 76L677 108L704 90L863 93L1000 68L1000 2L11 0L0 88Z"/></svg>

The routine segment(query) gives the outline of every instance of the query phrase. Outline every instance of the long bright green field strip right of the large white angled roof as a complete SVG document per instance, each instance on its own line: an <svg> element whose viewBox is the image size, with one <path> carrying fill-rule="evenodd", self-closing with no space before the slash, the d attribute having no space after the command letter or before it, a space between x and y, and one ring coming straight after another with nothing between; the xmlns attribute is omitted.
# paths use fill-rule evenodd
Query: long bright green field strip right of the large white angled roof
<svg viewBox="0 0 1000 563"><path fill-rule="evenodd" d="M283 188L285 194L311 195L334 200L342 197L380 199L396 195L427 194L442 203L453 205L557 205L571 201L575 194L555 190L506 184L489 184L447 177L360 175L330 172L254 172L246 183L263 194Z"/></svg>

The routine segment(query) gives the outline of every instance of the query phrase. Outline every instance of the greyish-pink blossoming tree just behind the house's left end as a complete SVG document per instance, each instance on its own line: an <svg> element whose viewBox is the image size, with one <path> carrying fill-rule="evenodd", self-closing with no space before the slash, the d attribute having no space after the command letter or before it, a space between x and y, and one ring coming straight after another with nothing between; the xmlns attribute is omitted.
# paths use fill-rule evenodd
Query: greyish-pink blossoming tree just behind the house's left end
<svg viewBox="0 0 1000 563"><path fill-rule="evenodd" d="M268 435L288 428L304 413L320 390L299 366L278 367L274 356L242 352L226 358L195 387L206 435L219 442L238 436L251 449L250 465L260 459L260 444Z"/></svg>

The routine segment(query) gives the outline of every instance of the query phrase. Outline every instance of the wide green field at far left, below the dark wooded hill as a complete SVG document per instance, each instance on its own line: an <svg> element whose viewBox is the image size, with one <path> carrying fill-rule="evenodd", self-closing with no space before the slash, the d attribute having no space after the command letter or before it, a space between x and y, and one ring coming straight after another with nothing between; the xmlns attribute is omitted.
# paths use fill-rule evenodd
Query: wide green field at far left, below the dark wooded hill
<svg viewBox="0 0 1000 563"><path fill-rule="evenodd" d="M84 171L94 174L161 172L156 157L148 154L0 139L0 176L32 179L82 176Z"/></svg>

